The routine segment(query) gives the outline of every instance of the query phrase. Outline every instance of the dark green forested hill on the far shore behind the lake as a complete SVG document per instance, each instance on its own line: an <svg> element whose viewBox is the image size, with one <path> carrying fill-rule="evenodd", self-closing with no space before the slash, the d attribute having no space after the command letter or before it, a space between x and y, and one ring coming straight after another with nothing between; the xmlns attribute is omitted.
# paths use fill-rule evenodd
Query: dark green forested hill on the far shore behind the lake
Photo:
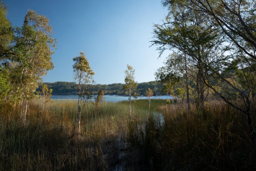
<svg viewBox="0 0 256 171"><path fill-rule="evenodd" d="M55 83L44 83L48 88L53 89L52 95L77 95L78 86L75 82L55 82ZM99 90L103 90L104 94L107 95L127 95L127 92L123 88L124 84L114 83L114 84L96 84L88 85L88 90L97 95ZM154 95L159 95L161 93L162 84L157 81L150 81L144 83L138 83L136 93L140 95L145 95L148 88L152 89ZM37 89L41 90L41 86Z"/></svg>

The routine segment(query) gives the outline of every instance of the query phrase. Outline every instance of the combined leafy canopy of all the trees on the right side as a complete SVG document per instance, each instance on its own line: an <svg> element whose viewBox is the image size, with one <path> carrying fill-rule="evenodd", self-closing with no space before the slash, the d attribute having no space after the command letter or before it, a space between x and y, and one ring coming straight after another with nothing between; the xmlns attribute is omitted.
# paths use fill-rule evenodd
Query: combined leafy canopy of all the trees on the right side
<svg viewBox="0 0 256 171"><path fill-rule="evenodd" d="M169 13L164 24L155 25L152 44L158 45L160 54L166 49L185 53L187 62L196 66L200 110L204 110L205 99L213 93L242 111L256 136L250 116L255 96L255 1L164 0L162 3ZM234 98L243 104L233 103Z"/></svg>

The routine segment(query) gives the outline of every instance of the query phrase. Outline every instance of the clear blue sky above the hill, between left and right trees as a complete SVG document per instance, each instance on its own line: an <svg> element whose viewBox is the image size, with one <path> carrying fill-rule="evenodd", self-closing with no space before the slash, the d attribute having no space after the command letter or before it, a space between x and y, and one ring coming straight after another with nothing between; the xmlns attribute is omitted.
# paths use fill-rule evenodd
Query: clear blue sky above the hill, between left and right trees
<svg viewBox="0 0 256 171"><path fill-rule="evenodd" d="M72 58L84 51L95 72L97 84L124 83L124 70L135 69L135 80L154 80L168 52L158 58L149 47L153 23L162 23L167 9L161 0L2 0L8 6L7 18L21 27L28 9L47 16L57 39L52 55L54 69L44 82L73 79Z"/></svg>

